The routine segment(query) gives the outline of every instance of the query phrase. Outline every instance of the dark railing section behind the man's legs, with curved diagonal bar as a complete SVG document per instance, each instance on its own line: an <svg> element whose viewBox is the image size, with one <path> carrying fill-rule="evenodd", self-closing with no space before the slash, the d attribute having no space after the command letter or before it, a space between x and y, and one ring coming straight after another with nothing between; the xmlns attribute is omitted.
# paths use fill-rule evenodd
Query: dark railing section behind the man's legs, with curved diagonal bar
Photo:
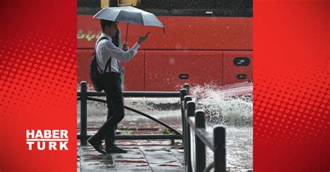
<svg viewBox="0 0 330 172"><path fill-rule="evenodd" d="M98 99L95 97L106 96L104 92L88 91L86 81L81 81L80 92L77 93L77 100L80 101L80 134L77 135L77 138L80 139L81 145L87 144L87 139L91 135L87 135L87 101L103 102L107 103L106 100ZM179 92L148 92L148 91L123 91L124 97L180 97ZM171 132L175 134L134 134L134 135L121 135L116 134L115 139L182 139L182 134L175 130L170 125L153 118L152 116L145 114L141 111L133 109L132 107L124 106L124 109L133 111L136 114L145 116L151 120L154 120L156 123L163 125L168 128Z"/></svg>

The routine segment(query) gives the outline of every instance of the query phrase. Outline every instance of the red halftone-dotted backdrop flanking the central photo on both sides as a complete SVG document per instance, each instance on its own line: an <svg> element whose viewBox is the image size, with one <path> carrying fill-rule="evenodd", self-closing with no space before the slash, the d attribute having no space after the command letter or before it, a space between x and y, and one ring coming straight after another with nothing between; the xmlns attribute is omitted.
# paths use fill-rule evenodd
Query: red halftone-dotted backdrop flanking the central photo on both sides
<svg viewBox="0 0 330 172"><path fill-rule="evenodd" d="M75 171L76 1L1 1L0 171ZM328 0L253 2L254 171L329 171ZM28 151L26 129L69 130Z"/></svg>

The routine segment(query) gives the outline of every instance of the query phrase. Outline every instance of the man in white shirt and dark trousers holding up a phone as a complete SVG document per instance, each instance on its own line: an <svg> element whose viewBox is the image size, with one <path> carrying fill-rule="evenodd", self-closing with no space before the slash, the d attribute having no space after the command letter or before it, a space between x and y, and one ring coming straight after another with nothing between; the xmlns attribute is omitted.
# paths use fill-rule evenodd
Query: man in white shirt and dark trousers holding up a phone
<svg viewBox="0 0 330 172"><path fill-rule="evenodd" d="M119 61L129 61L137 53L140 45L148 38L148 36L140 36L139 41L128 49L127 42L123 44L123 49L116 47L113 44L112 38L116 36L118 31L118 23L109 20L101 19L102 34L95 45L97 65L102 72L104 71L103 89L107 95L108 119L100 130L94 136L88 139L97 150L104 155L110 153L127 153L126 150L118 148L114 144L114 130L116 125L123 120L125 116L123 93L121 89L120 65ZM125 51L124 51L125 50ZM102 147L102 139L107 136L106 150Z"/></svg>

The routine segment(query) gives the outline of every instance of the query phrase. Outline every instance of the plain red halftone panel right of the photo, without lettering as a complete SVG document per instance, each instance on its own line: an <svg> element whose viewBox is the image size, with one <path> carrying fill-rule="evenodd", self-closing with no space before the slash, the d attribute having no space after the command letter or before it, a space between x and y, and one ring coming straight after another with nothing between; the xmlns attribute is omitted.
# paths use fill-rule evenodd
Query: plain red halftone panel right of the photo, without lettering
<svg viewBox="0 0 330 172"><path fill-rule="evenodd" d="M253 4L253 169L329 171L330 1Z"/></svg>

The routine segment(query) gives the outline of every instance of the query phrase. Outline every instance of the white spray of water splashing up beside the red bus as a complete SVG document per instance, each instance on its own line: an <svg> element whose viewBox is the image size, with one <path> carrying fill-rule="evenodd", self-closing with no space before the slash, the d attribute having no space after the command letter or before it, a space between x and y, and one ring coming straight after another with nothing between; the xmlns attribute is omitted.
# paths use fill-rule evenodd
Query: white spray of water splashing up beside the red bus
<svg viewBox="0 0 330 172"><path fill-rule="evenodd" d="M227 96L212 85L191 88L196 109L205 111L207 123L235 127L252 126L252 95Z"/></svg>

